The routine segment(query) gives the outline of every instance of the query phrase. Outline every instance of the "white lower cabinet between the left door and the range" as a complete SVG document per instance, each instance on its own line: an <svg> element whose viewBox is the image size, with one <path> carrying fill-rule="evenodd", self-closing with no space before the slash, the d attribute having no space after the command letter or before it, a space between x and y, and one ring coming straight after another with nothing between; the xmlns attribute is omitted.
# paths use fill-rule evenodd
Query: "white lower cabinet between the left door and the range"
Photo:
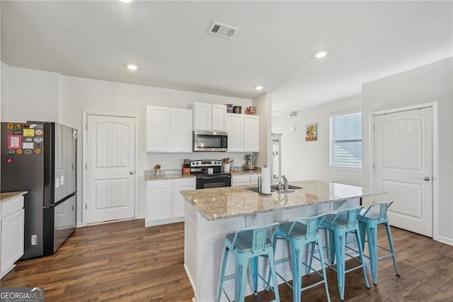
<svg viewBox="0 0 453 302"><path fill-rule="evenodd" d="M185 198L180 191L195 190L195 177L147 181L145 226L184 220Z"/></svg>

